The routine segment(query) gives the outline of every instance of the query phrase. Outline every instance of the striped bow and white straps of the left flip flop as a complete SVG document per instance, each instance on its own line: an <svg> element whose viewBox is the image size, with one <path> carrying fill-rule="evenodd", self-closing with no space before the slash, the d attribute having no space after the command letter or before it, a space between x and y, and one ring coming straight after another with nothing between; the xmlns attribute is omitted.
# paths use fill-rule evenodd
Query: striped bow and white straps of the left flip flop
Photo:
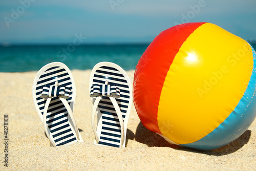
<svg viewBox="0 0 256 171"><path fill-rule="evenodd" d="M59 97L59 99L61 100L61 102L63 103L65 108L67 109L67 111L69 113L69 116L71 117L71 120L73 122L76 137L79 141L79 134L78 134L78 129L77 129L75 117L74 117L73 112L70 108L70 105L67 101L67 99L70 98L70 92L71 92L71 88L64 87L64 86L58 86L57 81L55 82L55 85L52 85L52 86L45 85L41 89L40 98L47 98L47 101L45 103L45 108L44 108L43 121L44 121L45 130L46 130L46 135L47 135L48 139L50 140L50 143L51 143L52 146L56 146L56 145L52 141L53 138L50 137L50 130L49 130L47 124L46 124L46 115L47 115L49 104L50 104L51 99L53 97Z"/></svg>

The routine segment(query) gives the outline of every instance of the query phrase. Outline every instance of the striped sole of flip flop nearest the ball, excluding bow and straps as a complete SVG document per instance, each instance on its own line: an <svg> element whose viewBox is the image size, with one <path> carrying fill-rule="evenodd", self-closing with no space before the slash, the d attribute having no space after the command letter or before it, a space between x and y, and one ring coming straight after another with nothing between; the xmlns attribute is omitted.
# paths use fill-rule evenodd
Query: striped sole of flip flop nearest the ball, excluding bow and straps
<svg viewBox="0 0 256 171"><path fill-rule="evenodd" d="M122 147L125 146L125 135L127 123L132 108L132 84L126 72L111 62L100 62L92 70L89 89L93 84L115 84L120 88L120 98L115 98L121 111L124 122L124 141ZM93 104L96 98L92 98ZM97 108L97 130L99 135L99 145L120 147L121 142L121 126L118 120L115 108L108 96L102 96ZM97 144L96 140L94 144Z"/></svg>

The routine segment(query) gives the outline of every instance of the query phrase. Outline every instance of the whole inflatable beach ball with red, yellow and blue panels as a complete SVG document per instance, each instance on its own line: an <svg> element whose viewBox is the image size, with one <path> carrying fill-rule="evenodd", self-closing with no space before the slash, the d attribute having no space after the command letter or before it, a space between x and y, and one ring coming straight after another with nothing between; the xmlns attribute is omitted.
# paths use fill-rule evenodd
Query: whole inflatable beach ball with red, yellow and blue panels
<svg viewBox="0 0 256 171"><path fill-rule="evenodd" d="M161 32L135 70L142 124L170 143L200 150L237 139L256 116L255 57L248 42L214 24Z"/></svg>

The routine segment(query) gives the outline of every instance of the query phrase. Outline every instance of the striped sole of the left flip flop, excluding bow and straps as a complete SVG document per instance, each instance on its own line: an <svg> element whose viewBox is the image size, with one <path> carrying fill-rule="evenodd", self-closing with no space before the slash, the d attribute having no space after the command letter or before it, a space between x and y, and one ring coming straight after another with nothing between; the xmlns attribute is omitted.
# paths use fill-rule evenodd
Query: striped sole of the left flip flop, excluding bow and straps
<svg viewBox="0 0 256 171"><path fill-rule="evenodd" d="M38 71L33 82L34 104L42 121L47 99L40 98L41 89L45 85L54 85L56 81L58 86L65 86L71 89L70 98L67 99L67 102L73 111L76 87L71 71L61 62L52 62ZM66 107L58 97L53 97L50 101L47 109L46 123L48 126L46 131L48 131L56 146L78 142L74 131L74 123ZM78 134L79 142L83 142L79 132Z"/></svg>

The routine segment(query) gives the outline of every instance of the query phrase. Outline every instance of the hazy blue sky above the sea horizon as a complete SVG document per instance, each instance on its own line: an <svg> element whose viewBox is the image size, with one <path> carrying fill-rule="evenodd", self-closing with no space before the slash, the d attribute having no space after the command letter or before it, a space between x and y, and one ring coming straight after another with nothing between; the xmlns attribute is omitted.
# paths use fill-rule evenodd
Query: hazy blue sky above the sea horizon
<svg viewBox="0 0 256 171"><path fill-rule="evenodd" d="M256 40L256 1L19 0L0 2L0 43L151 42L179 23L209 22ZM214 33L213 33L214 34Z"/></svg>

